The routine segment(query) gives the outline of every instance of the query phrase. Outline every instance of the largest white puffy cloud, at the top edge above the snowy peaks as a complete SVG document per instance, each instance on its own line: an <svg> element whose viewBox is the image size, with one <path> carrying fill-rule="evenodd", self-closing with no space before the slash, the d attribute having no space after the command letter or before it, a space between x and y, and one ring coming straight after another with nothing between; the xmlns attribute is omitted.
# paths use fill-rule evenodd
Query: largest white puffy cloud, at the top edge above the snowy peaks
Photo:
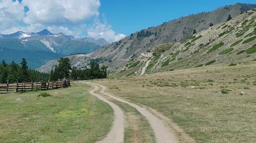
<svg viewBox="0 0 256 143"><path fill-rule="evenodd" d="M23 0L27 24L74 24L99 15L99 0Z"/></svg>

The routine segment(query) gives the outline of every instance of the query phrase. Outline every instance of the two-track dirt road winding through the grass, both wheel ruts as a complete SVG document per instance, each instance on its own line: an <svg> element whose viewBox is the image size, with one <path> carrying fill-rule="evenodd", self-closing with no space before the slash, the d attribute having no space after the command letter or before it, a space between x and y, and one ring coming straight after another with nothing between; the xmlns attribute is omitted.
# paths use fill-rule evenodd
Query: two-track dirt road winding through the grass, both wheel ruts
<svg viewBox="0 0 256 143"><path fill-rule="evenodd" d="M103 141L100 141L98 143L122 143L122 142L124 142L124 113L116 104L107 100L103 96L95 93L95 91L97 91L99 88L100 88L99 92L101 94L107 95L117 101L127 103L128 105L136 108L140 112L140 114L142 114L148 120L149 124L151 125L152 129L154 130L157 143L175 143L173 134L170 132L170 130L168 130L168 128L165 126L164 122L161 119L157 118L155 115L153 115L151 112L149 112L146 108L140 107L134 103L128 102L119 97L105 93L104 91L105 91L106 87L104 87L102 85L98 85L98 84L94 84L94 83L90 83L90 82L83 82L83 83L93 86L94 89L90 90L90 94L97 96L99 99L103 100L106 103L109 103L110 106L114 109L115 121L114 121L113 128L110 131L110 133L108 134L108 136Z"/></svg>

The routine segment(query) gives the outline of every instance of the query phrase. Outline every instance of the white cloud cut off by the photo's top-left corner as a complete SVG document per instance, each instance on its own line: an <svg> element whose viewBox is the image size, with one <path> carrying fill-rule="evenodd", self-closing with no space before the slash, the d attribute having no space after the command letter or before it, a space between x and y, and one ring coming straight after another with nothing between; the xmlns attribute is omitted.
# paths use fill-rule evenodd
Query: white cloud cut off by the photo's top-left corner
<svg viewBox="0 0 256 143"><path fill-rule="evenodd" d="M0 28L7 29L22 21L25 15L24 7L16 1L0 0Z"/></svg>

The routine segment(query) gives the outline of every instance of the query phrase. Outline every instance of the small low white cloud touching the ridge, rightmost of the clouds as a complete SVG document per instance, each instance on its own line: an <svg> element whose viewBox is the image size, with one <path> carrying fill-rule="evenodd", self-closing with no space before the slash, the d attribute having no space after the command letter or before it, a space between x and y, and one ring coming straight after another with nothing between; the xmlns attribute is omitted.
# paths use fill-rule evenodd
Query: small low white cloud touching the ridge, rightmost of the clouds
<svg viewBox="0 0 256 143"><path fill-rule="evenodd" d="M111 25L105 23L101 23L99 20L94 21L94 25L92 28L89 28L87 31L89 37L94 39L104 38L108 42L116 42L126 37L124 34L116 34L115 31L112 30Z"/></svg>

